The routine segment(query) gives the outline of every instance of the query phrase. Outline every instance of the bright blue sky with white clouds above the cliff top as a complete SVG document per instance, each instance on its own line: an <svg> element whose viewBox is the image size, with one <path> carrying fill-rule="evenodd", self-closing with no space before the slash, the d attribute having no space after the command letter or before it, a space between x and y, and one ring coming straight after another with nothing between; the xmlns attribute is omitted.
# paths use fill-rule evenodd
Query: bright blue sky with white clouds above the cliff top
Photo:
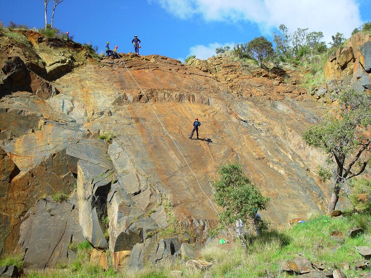
<svg viewBox="0 0 371 278"><path fill-rule="evenodd" d="M49 21L52 11L49 3ZM0 20L43 27L43 0L0 0ZM76 42L91 42L104 50L108 40L118 52L132 50L135 34L140 54L160 54L184 60L196 54L206 59L217 46L246 43L257 36L272 40L283 23L322 31L326 42L336 32L350 36L371 21L371 0L65 0L55 10L54 26L69 31Z"/></svg>

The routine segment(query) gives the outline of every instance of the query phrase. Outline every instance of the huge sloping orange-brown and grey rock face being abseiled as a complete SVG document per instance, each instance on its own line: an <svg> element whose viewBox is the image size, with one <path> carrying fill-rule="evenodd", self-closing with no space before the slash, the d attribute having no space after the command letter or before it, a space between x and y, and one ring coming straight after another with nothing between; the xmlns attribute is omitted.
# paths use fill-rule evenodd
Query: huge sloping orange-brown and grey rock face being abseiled
<svg viewBox="0 0 371 278"><path fill-rule="evenodd" d="M300 73L122 53L127 70L120 59L92 62L78 44L53 49L24 34L30 46L0 38L1 255L17 249L27 263L53 267L85 238L109 247L116 266L172 258L181 242L158 233L169 206L188 241L202 244L217 224L210 181L227 162L241 162L271 197L262 215L275 224L326 208L328 191L313 173L324 157L300 136L325 107L296 85ZM200 139L189 140L196 116ZM105 133L114 138L99 139ZM68 201L45 198L73 191Z"/></svg>

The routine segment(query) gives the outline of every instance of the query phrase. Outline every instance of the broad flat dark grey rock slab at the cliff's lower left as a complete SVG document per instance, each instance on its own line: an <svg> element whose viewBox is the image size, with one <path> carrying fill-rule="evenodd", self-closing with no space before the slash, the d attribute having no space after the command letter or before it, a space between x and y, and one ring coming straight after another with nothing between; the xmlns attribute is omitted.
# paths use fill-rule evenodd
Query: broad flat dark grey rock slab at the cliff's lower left
<svg viewBox="0 0 371 278"><path fill-rule="evenodd" d="M24 262L35 268L56 267L69 262L70 242L85 241L79 225L76 196L55 202L51 197L40 199L20 226L16 252L25 254Z"/></svg>

